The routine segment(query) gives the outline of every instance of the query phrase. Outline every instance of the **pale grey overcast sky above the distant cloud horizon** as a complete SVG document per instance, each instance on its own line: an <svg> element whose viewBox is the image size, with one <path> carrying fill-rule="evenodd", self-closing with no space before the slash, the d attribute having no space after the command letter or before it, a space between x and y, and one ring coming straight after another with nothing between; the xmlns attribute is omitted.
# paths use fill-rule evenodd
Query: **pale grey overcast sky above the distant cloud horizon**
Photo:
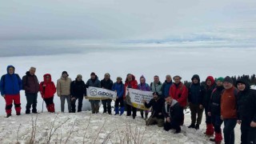
<svg viewBox="0 0 256 144"><path fill-rule="evenodd" d="M0 39L254 38L255 0L0 0Z"/></svg>

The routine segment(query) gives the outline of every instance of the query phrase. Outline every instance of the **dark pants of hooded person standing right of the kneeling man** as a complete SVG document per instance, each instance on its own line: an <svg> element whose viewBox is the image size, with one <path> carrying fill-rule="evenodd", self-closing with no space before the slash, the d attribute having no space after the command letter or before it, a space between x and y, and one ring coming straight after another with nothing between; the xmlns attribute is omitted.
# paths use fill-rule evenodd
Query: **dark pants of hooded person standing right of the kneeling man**
<svg viewBox="0 0 256 144"><path fill-rule="evenodd" d="M190 103L190 111L191 111L191 124L195 124L197 122L198 125L202 122L202 113L203 109L200 109L199 104ZM197 118L198 114L198 118Z"/></svg>

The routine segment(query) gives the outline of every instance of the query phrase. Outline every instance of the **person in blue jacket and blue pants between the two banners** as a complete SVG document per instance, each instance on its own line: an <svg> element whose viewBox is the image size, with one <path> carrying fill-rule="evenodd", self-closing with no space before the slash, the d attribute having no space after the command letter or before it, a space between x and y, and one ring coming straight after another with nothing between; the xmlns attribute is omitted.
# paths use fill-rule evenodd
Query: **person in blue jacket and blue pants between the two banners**
<svg viewBox="0 0 256 144"><path fill-rule="evenodd" d="M112 90L117 93L117 98L114 102L114 115L119 114L119 104L120 104L120 115L123 114L125 111L125 107L123 104L123 93L125 90L125 86L122 83L122 78L118 77L117 82L114 82L114 85L112 86Z"/></svg>

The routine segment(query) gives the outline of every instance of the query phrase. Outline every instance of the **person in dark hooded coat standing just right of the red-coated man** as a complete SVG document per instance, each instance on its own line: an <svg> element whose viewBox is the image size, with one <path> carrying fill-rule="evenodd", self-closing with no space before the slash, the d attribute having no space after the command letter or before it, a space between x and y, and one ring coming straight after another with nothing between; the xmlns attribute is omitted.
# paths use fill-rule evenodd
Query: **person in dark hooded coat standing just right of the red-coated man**
<svg viewBox="0 0 256 144"><path fill-rule="evenodd" d="M191 124L188 128L195 128L199 130L199 126L202 122L203 106L202 100L204 95L204 87L200 84L200 78L198 74L194 74L191 78L192 84L189 87L188 101L191 111ZM198 115L198 118L197 118ZM196 125L195 125L195 122Z"/></svg>

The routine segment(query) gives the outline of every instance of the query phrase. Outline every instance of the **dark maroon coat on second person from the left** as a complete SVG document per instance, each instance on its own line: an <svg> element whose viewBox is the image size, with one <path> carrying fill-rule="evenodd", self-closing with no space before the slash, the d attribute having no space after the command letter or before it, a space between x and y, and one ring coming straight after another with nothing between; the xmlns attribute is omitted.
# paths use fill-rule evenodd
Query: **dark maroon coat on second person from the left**
<svg viewBox="0 0 256 144"><path fill-rule="evenodd" d="M29 71L22 77L22 86L26 94L38 94L39 82L36 75L31 75Z"/></svg>

